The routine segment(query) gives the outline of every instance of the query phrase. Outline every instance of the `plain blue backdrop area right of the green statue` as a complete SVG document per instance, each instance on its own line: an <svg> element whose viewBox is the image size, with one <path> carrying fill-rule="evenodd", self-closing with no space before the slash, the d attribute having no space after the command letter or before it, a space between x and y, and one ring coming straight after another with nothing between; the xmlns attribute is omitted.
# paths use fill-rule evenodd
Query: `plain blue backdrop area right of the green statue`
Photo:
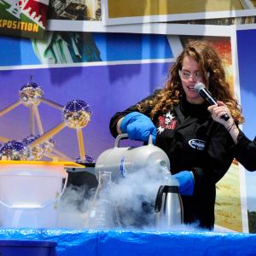
<svg viewBox="0 0 256 256"><path fill-rule="evenodd" d="M166 35L94 33L102 61L172 58ZM120 56L122 56L120 58Z"/></svg>

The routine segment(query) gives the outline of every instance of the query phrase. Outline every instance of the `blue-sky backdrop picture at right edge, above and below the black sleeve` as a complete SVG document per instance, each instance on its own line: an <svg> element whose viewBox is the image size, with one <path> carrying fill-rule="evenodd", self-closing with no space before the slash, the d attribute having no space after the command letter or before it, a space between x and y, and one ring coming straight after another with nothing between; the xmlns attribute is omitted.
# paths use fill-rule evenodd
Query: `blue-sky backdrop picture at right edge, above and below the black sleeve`
<svg viewBox="0 0 256 256"><path fill-rule="evenodd" d="M255 107L256 107L256 30L237 31L237 54L239 63L239 80L242 113L246 119L242 126L243 131L250 139L256 135L255 129ZM253 172L246 172L247 182L247 209L249 230L253 228L253 213L256 212L255 206L255 183L256 176Z"/></svg>

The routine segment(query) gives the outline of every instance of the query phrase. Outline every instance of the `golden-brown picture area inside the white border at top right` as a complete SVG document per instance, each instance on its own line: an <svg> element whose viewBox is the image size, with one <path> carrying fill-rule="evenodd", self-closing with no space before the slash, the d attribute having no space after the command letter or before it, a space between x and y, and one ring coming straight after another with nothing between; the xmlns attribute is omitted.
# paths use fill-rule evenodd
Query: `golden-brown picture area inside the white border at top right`
<svg viewBox="0 0 256 256"><path fill-rule="evenodd" d="M108 0L109 18L243 9L239 0Z"/></svg>

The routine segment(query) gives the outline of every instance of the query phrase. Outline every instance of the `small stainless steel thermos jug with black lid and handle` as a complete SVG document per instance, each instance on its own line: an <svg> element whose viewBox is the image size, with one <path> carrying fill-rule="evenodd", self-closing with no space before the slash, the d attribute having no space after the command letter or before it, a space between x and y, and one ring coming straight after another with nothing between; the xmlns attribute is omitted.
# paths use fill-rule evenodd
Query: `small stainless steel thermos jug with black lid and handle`
<svg viewBox="0 0 256 256"><path fill-rule="evenodd" d="M157 227L172 227L183 224L183 203L178 186L160 186L154 203Z"/></svg>

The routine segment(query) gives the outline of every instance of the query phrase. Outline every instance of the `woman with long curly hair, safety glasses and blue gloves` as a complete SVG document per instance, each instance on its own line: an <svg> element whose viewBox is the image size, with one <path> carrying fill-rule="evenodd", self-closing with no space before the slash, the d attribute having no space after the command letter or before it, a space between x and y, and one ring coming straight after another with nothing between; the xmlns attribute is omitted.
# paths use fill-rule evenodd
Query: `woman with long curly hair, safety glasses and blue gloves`
<svg viewBox="0 0 256 256"><path fill-rule="evenodd" d="M148 141L151 133L156 146L171 162L183 199L184 223L199 222L211 230L214 224L215 183L228 171L234 145L229 132L215 122L207 102L195 91L201 82L212 96L226 102L237 123L240 109L225 81L224 68L208 44L189 44L171 67L165 88L137 105L116 113L110 121L114 137L127 132L131 139Z"/></svg>

